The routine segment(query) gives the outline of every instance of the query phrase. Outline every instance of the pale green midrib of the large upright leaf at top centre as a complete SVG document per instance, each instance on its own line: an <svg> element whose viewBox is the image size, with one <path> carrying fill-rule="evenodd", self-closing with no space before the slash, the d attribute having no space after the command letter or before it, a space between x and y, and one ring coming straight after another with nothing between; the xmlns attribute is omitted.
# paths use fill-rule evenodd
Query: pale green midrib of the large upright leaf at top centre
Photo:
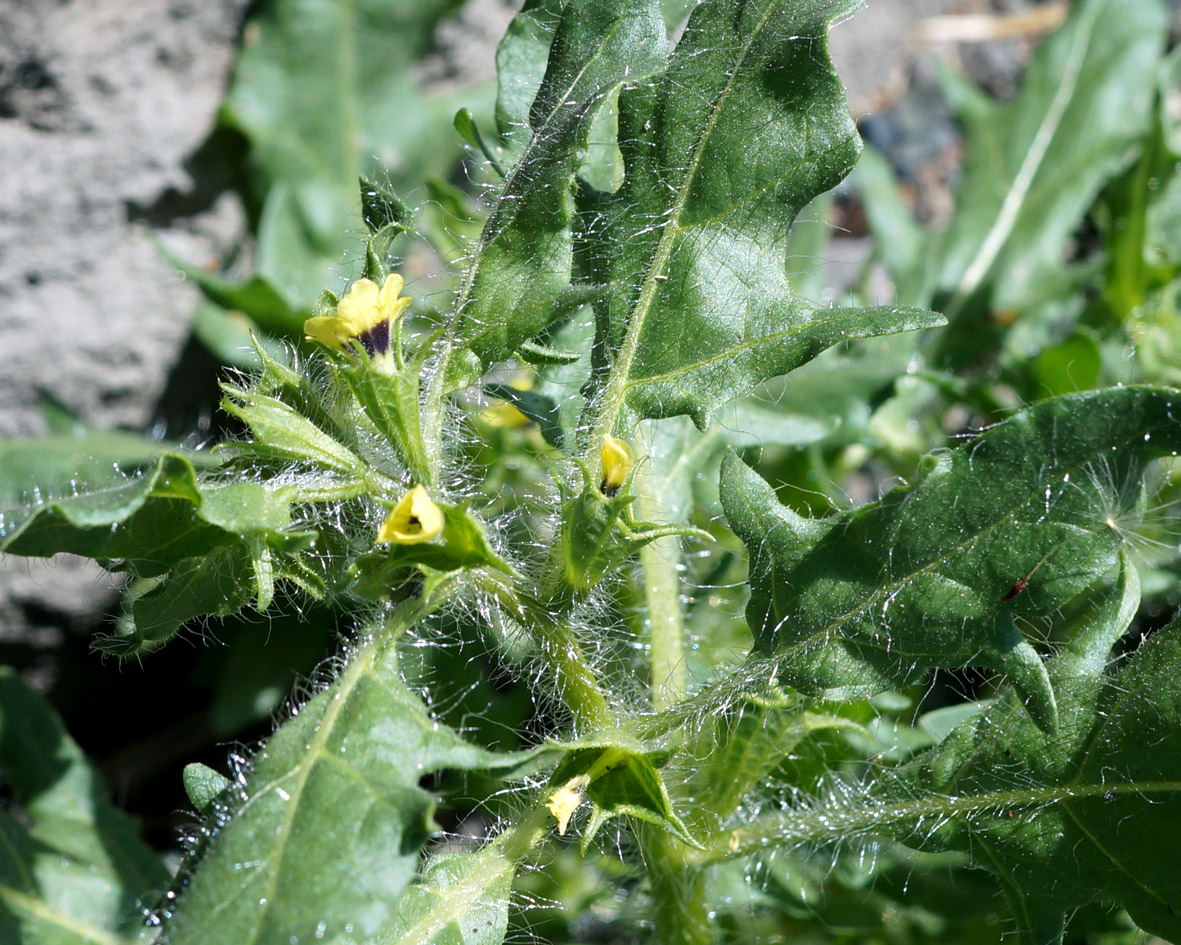
<svg viewBox="0 0 1181 945"><path fill-rule="evenodd" d="M624 337L624 343L620 345L620 348L612 361L607 386L600 399L601 406L599 408L599 416L595 418L594 425L592 426L590 439L587 443L583 462L590 469L593 478L598 477L601 468L599 450L602 445L602 441L605 437L611 436L614 432L615 424L619 422L619 416L627 400L627 391L629 387L628 376L632 371L632 363L635 360L635 352L640 346L640 334L644 331L644 324L647 321L648 313L652 309L652 302L655 300L661 278L664 276L665 267L668 265L668 258L672 255L673 240L683 233L680 227L680 216L685 209L685 202L689 200L692 182L697 176L698 169L700 168L702 156L705 154L705 145L709 143L710 136L713 133L713 129L717 126L720 118L722 109L725 105L726 99L730 97L730 92L733 90L738 76L742 73L743 63L750 54L751 47L755 45L755 40L763 31L763 27L766 26L768 20L776 9L776 4L768 5L763 18L751 31L748 41L742 46L742 50L735 60L733 67L726 77L725 85L722 87L722 91L718 92L717 99L715 99L711 105L710 117L705 122L702 136L698 138L697 144L693 148L692 156L690 157L689 167L685 170L685 175L681 177L680 190L677 193L677 198L673 202L671 213L668 214L668 223L665 227L664 233L660 234L660 242L657 245L657 250L652 256L652 262L644 276L644 282L640 286L640 294L635 300L635 307L632 309L632 318L627 325L627 334Z"/></svg>

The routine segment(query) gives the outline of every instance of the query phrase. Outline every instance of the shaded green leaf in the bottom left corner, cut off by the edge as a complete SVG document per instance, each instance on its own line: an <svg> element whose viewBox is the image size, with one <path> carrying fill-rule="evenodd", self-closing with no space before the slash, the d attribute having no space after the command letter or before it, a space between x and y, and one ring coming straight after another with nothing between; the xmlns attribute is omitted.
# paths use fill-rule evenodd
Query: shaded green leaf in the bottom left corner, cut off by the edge
<svg viewBox="0 0 1181 945"><path fill-rule="evenodd" d="M123 945L168 871L60 719L0 667L0 768L14 813L0 813L0 937Z"/></svg>

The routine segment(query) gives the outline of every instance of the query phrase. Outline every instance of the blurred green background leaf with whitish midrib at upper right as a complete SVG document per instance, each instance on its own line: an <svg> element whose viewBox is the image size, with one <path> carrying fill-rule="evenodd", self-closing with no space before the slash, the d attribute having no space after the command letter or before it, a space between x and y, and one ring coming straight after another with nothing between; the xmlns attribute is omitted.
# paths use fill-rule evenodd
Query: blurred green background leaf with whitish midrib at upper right
<svg viewBox="0 0 1181 945"><path fill-rule="evenodd" d="M938 289L952 296L953 321L984 286L994 311L1020 311L1062 268L1066 241L1148 128L1167 26L1154 0L1072 4L1018 96L993 103L976 93L960 107L964 182L955 220L938 237Z"/></svg>

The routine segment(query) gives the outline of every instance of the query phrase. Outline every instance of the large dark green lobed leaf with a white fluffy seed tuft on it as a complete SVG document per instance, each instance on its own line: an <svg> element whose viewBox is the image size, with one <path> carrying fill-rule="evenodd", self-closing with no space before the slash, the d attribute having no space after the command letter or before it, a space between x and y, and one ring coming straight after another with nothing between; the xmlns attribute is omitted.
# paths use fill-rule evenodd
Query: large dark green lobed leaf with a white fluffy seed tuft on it
<svg viewBox="0 0 1181 945"><path fill-rule="evenodd" d="M1113 567L1143 513L1144 463L1181 450L1175 403L1148 387L1046 400L827 519L797 516L729 456L722 501L750 552L757 652L837 698L991 666L1051 726L1055 695L1014 619L1052 614Z"/></svg>

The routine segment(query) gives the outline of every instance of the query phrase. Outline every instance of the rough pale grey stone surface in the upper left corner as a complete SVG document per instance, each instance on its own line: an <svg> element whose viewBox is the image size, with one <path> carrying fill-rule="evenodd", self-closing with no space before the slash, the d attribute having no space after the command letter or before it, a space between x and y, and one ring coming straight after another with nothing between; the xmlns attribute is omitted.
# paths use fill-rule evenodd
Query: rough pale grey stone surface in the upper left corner
<svg viewBox="0 0 1181 945"><path fill-rule="evenodd" d="M143 426L195 295L141 222L195 188L246 0L18 2L0 8L0 432L40 432L39 390L84 418ZM197 258L233 208L167 221ZM190 236L191 234L191 236Z"/></svg>

